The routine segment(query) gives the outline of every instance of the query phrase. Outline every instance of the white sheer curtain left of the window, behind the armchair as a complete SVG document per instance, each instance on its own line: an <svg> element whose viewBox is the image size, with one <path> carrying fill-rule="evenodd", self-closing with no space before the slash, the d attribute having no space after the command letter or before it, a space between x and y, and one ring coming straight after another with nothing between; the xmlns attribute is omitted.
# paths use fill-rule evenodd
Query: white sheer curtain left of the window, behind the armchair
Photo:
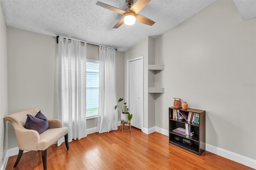
<svg viewBox="0 0 256 170"><path fill-rule="evenodd" d="M68 142L86 137L86 42L70 39L60 36L58 43L59 119L68 127Z"/></svg>

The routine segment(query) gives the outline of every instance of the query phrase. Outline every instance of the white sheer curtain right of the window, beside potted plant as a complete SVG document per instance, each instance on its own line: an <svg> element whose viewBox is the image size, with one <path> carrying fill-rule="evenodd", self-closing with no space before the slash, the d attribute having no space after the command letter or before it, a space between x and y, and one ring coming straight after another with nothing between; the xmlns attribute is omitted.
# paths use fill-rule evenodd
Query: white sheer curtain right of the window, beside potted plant
<svg viewBox="0 0 256 170"><path fill-rule="evenodd" d="M116 50L100 46L100 89L97 132L117 130L116 101Z"/></svg>

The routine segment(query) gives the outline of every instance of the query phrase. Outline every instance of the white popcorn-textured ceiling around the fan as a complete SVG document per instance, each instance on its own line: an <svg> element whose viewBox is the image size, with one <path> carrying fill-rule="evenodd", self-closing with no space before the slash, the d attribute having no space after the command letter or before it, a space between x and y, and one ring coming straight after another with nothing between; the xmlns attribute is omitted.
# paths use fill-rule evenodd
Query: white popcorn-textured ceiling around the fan
<svg viewBox="0 0 256 170"><path fill-rule="evenodd" d="M113 26L121 14L96 5L100 1L127 8L125 0L0 0L7 26L67 36L126 51L147 36L156 38L216 0L151 0L138 14L156 22L148 26ZM134 0L134 3L137 0ZM242 20L256 16L256 0L234 0Z"/></svg>

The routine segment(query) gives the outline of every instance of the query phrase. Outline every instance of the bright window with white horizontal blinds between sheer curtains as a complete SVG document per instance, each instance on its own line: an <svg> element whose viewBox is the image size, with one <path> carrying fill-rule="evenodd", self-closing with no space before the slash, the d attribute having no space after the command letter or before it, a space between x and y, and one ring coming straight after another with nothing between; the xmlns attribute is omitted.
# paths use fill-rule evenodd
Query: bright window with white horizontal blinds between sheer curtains
<svg viewBox="0 0 256 170"><path fill-rule="evenodd" d="M86 61L86 118L98 117L99 110L99 61Z"/></svg>

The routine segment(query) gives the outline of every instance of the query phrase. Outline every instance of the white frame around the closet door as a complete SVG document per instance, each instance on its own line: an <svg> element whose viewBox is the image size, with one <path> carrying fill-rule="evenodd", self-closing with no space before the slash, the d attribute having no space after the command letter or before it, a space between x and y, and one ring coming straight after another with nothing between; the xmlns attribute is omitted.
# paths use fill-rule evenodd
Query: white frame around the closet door
<svg viewBox="0 0 256 170"><path fill-rule="evenodd" d="M142 128L141 128L141 131L143 132L143 120L144 120L144 61L143 61L143 55L140 56L140 57L136 57L136 58L132 58L132 59L128 59L127 60L127 101L128 101L128 106L129 106L129 62L130 61L135 61L135 60L138 60L138 59L142 59L142 122L141 122L141 125L142 125Z"/></svg>

